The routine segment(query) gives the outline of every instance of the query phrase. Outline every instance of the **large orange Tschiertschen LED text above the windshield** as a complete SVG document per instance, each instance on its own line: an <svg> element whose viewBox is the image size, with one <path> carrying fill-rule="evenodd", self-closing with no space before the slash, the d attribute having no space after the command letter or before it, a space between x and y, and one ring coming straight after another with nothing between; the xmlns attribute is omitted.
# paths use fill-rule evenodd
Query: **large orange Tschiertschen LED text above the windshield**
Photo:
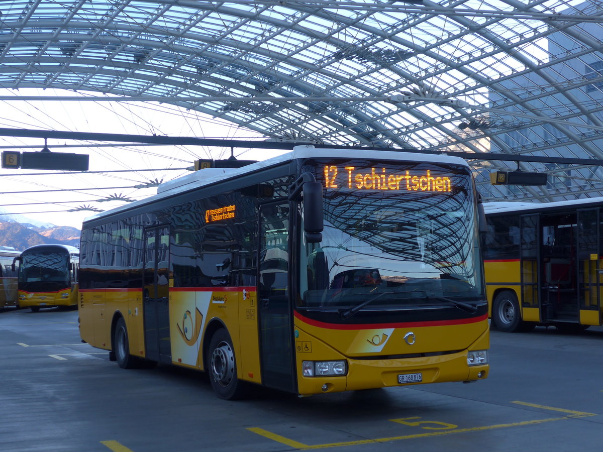
<svg viewBox="0 0 603 452"><path fill-rule="evenodd" d="M431 171L409 170L397 173L386 168L324 166L324 186L335 189L347 186L357 190L408 190L419 192L452 192L449 177L434 177Z"/></svg>

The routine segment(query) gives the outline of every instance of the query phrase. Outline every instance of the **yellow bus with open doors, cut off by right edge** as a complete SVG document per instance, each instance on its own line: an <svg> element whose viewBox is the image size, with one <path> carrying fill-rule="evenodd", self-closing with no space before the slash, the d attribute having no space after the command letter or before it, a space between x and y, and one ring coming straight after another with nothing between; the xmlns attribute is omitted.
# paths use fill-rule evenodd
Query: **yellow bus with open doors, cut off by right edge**
<svg viewBox="0 0 603 452"><path fill-rule="evenodd" d="M491 318L502 331L602 324L603 198L488 202L484 269Z"/></svg>

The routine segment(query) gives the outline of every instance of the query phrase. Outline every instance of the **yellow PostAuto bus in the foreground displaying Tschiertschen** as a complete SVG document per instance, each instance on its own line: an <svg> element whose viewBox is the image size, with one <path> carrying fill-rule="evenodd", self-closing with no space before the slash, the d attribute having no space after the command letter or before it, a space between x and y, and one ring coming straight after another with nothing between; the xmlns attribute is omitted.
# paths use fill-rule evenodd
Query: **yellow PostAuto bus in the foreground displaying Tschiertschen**
<svg viewBox="0 0 603 452"><path fill-rule="evenodd" d="M206 371L225 399L484 379L476 198L441 155L201 169L84 221L81 337L121 368Z"/></svg>

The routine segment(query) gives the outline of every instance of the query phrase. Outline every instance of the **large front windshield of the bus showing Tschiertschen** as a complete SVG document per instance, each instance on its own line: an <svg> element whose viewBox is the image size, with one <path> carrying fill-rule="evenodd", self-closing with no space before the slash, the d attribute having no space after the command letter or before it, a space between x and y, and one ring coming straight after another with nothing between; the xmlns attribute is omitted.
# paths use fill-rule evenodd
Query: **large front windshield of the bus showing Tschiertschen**
<svg viewBox="0 0 603 452"><path fill-rule="evenodd" d="M324 231L303 243L299 307L456 306L484 300L472 179L435 163L329 162Z"/></svg>

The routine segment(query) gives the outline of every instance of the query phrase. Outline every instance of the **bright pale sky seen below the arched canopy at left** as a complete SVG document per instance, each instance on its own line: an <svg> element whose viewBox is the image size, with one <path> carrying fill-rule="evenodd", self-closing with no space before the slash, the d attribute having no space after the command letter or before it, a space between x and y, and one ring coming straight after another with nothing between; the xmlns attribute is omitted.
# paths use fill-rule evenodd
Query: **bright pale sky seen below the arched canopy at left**
<svg viewBox="0 0 603 452"><path fill-rule="evenodd" d="M0 95L74 96L63 90L0 89ZM94 93L98 96L98 93ZM197 111L159 102L96 101L0 101L0 128L77 131L178 137L257 139L261 134L203 115ZM265 138L265 137L264 137ZM110 144L110 146L106 146ZM107 198L144 199L156 187L137 189L135 185L168 181L189 174L198 159L226 159L230 148L209 146L156 146L126 143L86 142L48 139L55 152L89 154L89 171L0 168L0 215L25 216L34 221L80 229L92 210L110 210L128 201ZM71 147L71 146L78 147ZM93 146L90 146L93 145ZM104 146L99 146L104 145ZM33 152L44 146L42 138L0 136L0 151ZM286 151L235 148L238 159L266 160ZM106 171L98 173L99 171ZM105 199L98 201L99 199Z"/></svg>

